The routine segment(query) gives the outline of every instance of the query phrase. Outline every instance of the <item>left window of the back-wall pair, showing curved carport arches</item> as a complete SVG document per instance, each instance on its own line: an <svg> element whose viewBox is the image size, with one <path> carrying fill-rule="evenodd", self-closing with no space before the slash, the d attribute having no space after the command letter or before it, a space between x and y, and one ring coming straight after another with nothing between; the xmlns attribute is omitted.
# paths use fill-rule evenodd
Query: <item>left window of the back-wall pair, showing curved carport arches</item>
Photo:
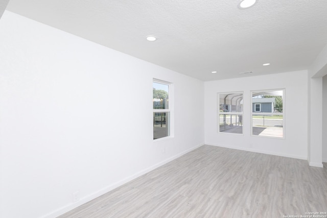
<svg viewBox="0 0 327 218"><path fill-rule="evenodd" d="M243 92L218 93L218 132L243 134Z"/></svg>

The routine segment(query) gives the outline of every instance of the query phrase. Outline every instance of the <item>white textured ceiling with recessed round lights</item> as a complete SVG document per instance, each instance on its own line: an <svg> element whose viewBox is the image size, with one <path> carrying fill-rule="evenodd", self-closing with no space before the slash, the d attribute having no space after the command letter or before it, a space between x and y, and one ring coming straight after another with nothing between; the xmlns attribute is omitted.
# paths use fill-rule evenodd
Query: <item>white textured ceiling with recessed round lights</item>
<svg viewBox="0 0 327 218"><path fill-rule="evenodd" d="M326 0L238 3L10 0L7 9L203 81L308 69L327 43Z"/></svg>

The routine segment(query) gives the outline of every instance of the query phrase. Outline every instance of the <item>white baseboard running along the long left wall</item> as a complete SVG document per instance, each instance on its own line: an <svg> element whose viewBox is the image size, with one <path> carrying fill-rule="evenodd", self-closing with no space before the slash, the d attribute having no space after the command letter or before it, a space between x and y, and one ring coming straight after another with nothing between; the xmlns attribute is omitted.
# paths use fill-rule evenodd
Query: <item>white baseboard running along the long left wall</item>
<svg viewBox="0 0 327 218"><path fill-rule="evenodd" d="M124 185L124 184L130 182L133 179L136 179L139 176L142 176L142 175L144 175L146 173L149 173L153 169L158 168L159 166L162 166L162 165L164 165L164 164L166 164L166 163L168 163L168 162L170 162L170 161L172 161L172 160L174 160L174 159L176 159L176 158L178 158L178 157L180 157L180 156L182 156L182 155L184 155L186 153L189 153L189 152L191 152L191 151L193 151L193 150L195 150L195 149L197 149L197 148L199 148L199 147L201 147L203 145L204 145L204 143L198 144L197 146L195 146L195 147L193 147L191 149L183 151L183 152L181 152L181 153L179 153L179 154L177 154L175 156L172 156L172 157L170 157L170 158L168 158L168 159L166 159L164 161L161 161L161 162L159 162L157 164L154 164L153 166L150 166L150 167L144 169L143 171L137 172L136 174L134 174L132 176L129 176L129 177L127 177L127 178L125 178L125 179L123 179L121 181L118 181L118 182L116 182L114 184L111 184L111 185L109 185L109 186L107 186L107 187L105 187L105 188L103 188L103 189L101 189L99 191L96 191L96 192L92 193L91 195L83 197L76 203L69 204L69 205L64 206L62 208L59 208L59 209L57 209L55 211L52 211L52 212L50 212L48 214L45 214L44 216L42 216L42 218L55 218L55 217L57 217L59 215L62 215L62 214L66 213L66 212L68 212L70 210L73 210L73 209L81 206L82 204L85 204L86 202L89 202L89 201L91 201L93 199L96 199L96 198L104 195L108 191L111 191L111 190L113 190L113 189L115 189L115 188L117 188L117 187L119 187L121 185Z"/></svg>

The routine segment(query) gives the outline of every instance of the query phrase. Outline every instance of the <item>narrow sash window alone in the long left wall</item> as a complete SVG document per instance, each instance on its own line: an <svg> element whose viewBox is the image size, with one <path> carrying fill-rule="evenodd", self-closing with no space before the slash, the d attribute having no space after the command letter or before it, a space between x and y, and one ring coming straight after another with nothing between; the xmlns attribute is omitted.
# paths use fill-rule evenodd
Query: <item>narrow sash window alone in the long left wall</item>
<svg viewBox="0 0 327 218"><path fill-rule="evenodd" d="M153 80L153 139L170 136L170 83Z"/></svg>

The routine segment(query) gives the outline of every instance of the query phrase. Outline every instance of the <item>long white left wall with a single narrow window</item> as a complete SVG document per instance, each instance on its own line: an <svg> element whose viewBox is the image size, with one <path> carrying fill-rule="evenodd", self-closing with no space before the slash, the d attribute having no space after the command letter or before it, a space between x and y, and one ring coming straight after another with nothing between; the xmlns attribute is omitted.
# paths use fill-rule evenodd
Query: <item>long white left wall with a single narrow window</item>
<svg viewBox="0 0 327 218"><path fill-rule="evenodd" d="M203 82L8 11L0 32L0 217L55 217L203 144ZM153 78L175 89L158 142Z"/></svg>

